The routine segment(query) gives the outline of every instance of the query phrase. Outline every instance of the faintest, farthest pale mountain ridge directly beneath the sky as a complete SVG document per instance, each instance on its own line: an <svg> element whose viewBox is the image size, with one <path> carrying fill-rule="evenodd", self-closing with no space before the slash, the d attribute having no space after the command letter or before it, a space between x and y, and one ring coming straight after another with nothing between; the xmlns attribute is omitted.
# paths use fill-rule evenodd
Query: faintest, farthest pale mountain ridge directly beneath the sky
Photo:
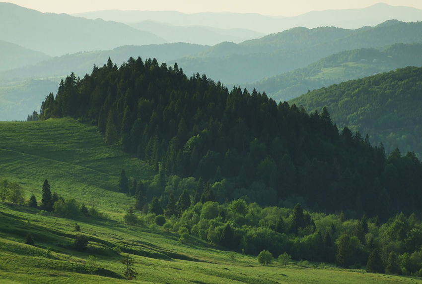
<svg viewBox="0 0 422 284"><path fill-rule="evenodd" d="M336 26L357 29L375 26L391 19L405 22L422 20L422 10L406 6L377 3L366 8L312 11L293 17L264 16L254 13L201 12L185 14L177 11L103 10L73 14L88 19L102 18L127 24L158 21L175 26L209 26L220 29L244 28L264 34L281 32L297 26L317 28Z"/></svg>

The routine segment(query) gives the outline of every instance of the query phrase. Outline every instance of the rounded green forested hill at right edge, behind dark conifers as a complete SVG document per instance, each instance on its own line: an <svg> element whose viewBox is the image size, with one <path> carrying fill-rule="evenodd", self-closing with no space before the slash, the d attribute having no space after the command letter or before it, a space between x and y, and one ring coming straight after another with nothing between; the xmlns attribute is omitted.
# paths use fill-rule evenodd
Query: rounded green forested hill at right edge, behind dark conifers
<svg viewBox="0 0 422 284"><path fill-rule="evenodd" d="M290 101L307 111L327 106L339 127L369 133L387 152L422 155L422 68L407 67L314 90Z"/></svg>

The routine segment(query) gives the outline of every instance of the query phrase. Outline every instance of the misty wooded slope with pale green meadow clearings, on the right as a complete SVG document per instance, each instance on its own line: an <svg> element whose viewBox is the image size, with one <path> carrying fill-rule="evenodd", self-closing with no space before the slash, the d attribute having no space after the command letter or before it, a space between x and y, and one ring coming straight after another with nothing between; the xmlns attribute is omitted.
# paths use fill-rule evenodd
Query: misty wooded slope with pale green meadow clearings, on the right
<svg viewBox="0 0 422 284"><path fill-rule="evenodd" d="M372 48L344 51L320 59L305 68L242 87L265 91L276 101L288 101L308 90L407 66L422 66L422 44L394 44L382 51Z"/></svg>

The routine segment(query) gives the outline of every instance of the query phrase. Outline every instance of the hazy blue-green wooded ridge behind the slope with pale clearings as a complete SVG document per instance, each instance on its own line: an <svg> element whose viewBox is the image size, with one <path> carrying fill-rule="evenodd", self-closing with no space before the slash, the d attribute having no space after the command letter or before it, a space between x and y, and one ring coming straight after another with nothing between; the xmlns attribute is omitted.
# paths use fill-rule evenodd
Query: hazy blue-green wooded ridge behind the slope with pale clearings
<svg viewBox="0 0 422 284"><path fill-rule="evenodd" d="M176 61L187 74L205 73L224 83L241 84L305 67L342 51L396 43L422 43L422 22L388 21L356 30L297 27L237 45L221 43L201 55Z"/></svg>

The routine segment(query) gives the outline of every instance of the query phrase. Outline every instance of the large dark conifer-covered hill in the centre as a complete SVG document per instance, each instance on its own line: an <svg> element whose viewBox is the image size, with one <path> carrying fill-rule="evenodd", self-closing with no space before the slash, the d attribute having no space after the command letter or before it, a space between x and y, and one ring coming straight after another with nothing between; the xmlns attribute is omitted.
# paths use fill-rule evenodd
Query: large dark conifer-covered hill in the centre
<svg viewBox="0 0 422 284"><path fill-rule="evenodd" d="M108 143L152 164L159 174L149 188L161 200L166 176L178 175L203 180L198 201L300 201L382 219L422 213L422 166L412 153L385 157L382 145L339 131L326 110L307 114L255 91L229 91L177 65L130 58L117 67L109 59L83 79L72 73L42 103L42 119L61 116L98 125Z"/></svg>

